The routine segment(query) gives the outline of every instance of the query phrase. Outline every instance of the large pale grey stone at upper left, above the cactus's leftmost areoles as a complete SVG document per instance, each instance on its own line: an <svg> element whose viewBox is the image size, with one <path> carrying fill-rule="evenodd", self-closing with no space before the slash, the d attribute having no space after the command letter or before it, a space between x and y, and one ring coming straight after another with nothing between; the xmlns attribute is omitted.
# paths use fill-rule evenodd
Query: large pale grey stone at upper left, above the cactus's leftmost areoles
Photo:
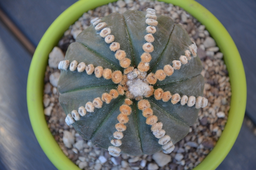
<svg viewBox="0 0 256 170"><path fill-rule="evenodd" d="M48 64L49 67L57 69L60 61L64 60L65 55L59 47L54 47L52 52L49 54Z"/></svg>

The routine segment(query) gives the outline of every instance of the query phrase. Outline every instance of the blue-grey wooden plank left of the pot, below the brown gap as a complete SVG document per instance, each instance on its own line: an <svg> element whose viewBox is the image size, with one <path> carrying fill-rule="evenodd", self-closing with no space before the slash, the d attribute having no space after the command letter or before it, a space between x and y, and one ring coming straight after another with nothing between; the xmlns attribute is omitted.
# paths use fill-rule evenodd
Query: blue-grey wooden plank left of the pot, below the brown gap
<svg viewBox="0 0 256 170"><path fill-rule="evenodd" d="M0 169L56 169L38 144L26 102L31 56L0 22Z"/></svg>

